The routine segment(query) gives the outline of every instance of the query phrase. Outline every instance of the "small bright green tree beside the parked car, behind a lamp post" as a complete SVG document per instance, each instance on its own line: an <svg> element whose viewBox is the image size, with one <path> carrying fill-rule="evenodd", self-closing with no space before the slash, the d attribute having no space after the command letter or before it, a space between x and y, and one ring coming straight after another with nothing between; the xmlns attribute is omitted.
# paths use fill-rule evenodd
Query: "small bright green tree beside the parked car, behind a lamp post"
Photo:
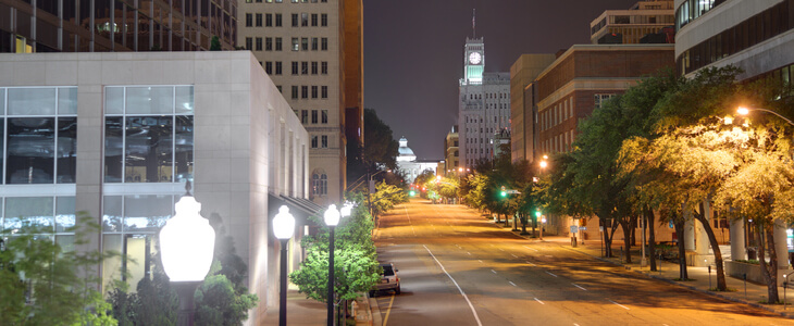
<svg viewBox="0 0 794 326"><path fill-rule="evenodd" d="M289 280L307 298L327 302L328 228L317 216L312 222L320 231L303 237L301 247L306 248L307 258L300 269L289 274ZM356 299L358 293L370 290L381 278L371 236L373 228L374 223L365 206L358 205L334 229L334 291L339 300Z"/></svg>

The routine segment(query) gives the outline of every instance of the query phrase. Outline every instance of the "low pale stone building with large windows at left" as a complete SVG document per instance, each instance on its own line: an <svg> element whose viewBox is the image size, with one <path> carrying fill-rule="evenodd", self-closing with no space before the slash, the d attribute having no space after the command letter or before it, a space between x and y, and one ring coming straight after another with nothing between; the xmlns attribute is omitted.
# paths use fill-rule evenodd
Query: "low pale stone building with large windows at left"
<svg viewBox="0 0 794 326"><path fill-rule="evenodd" d="M75 212L101 225L86 248L137 261L106 261L104 285L135 289L149 276L159 228L191 180L201 214L222 221L248 264L261 325L277 302L278 240L270 220L286 203L300 229L312 212L310 138L248 51L0 54L5 156L0 226L33 222L72 246Z"/></svg>

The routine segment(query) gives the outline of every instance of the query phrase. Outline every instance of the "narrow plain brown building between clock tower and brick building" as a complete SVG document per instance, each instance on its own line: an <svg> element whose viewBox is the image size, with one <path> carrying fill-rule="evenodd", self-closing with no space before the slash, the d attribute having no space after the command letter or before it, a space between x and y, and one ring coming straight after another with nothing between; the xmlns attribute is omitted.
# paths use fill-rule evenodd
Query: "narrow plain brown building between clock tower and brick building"
<svg viewBox="0 0 794 326"><path fill-rule="evenodd" d="M533 82L555 61L554 54L521 54L510 66L510 149L513 162L533 162L537 148L537 108Z"/></svg>

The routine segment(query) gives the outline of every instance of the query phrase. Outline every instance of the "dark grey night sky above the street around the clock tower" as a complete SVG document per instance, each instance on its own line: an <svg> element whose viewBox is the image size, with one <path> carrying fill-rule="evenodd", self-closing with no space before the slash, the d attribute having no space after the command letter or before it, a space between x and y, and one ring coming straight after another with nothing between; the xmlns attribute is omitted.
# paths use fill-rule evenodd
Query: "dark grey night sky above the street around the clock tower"
<svg viewBox="0 0 794 326"><path fill-rule="evenodd" d="M419 160L442 160L458 118L463 45L485 37L485 72L510 72L522 53L590 43L590 23L637 0L363 0L364 105ZM364 140L365 141L365 140Z"/></svg>

